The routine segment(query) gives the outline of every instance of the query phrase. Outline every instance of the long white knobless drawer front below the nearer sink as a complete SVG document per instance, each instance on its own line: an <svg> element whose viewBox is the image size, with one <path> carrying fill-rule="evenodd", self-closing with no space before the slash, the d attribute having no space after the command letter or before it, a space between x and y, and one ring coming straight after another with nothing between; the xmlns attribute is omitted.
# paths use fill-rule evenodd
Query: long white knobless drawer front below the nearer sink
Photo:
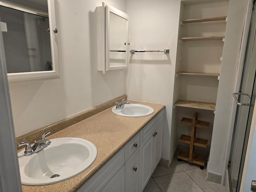
<svg viewBox="0 0 256 192"><path fill-rule="evenodd" d="M124 165L124 148L104 165L78 192L100 192Z"/></svg>

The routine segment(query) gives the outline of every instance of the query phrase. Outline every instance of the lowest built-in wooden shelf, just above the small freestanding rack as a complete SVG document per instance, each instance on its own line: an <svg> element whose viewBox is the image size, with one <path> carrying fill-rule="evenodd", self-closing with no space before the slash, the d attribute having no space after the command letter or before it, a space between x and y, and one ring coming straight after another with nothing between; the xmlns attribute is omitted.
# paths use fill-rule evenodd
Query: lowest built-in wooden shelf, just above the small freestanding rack
<svg viewBox="0 0 256 192"><path fill-rule="evenodd" d="M211 110L211 111L215 110L214 103L206 103L206 102L190 101L190 100L178 100L176 101L174 106L204 109L204 110Z"/></svg>

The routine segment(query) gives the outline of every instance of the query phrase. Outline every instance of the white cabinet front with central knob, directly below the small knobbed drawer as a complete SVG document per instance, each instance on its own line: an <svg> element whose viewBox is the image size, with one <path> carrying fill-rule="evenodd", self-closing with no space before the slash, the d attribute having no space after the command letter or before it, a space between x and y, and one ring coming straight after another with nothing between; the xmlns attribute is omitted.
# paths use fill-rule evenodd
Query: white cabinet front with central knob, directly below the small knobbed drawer
<svg viewBox="0 0 256 192"><path fill-rule="evenodd" d="M126 192L140 192L140 148L125 163Z"/></svg>

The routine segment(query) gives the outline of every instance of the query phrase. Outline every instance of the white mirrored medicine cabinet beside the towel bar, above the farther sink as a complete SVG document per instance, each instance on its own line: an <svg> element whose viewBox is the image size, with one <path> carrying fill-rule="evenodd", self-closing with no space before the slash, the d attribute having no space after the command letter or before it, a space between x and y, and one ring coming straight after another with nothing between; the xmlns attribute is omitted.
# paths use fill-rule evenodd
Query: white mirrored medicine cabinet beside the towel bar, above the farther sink
<svg viewBox="0 0 256 192"><path fill-rule="evenodd" d="M127 69L128 14L104 2L96 11L98 71Z"/></svg>

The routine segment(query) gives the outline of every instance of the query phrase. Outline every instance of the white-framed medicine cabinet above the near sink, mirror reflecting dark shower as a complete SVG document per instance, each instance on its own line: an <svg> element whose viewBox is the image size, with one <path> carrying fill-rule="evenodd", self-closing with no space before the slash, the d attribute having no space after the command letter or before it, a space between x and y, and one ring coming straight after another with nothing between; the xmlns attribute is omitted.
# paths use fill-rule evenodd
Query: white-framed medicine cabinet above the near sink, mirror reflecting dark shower
<svg viewBox="0 0 256 192"><path fill-rule="evenodd" d="M55 0L1 0L9 84L60 77Z"/></svg>

